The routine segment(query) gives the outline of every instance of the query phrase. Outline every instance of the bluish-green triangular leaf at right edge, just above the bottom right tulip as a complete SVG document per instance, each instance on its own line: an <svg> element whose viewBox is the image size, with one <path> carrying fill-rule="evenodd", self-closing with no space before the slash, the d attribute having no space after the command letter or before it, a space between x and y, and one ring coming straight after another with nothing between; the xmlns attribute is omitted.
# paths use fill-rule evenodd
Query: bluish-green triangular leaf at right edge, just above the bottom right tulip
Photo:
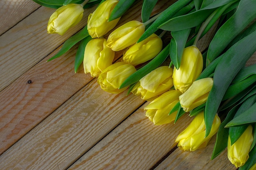
<svg viewBox="0 0 256 170"><path fill-rule="evenodd" d="M245 112L241 113L238 117L229 121L229 123L225 127L256 123L255 110L256 110L256 103L254 103L254 105L252 105Z"/></svg>

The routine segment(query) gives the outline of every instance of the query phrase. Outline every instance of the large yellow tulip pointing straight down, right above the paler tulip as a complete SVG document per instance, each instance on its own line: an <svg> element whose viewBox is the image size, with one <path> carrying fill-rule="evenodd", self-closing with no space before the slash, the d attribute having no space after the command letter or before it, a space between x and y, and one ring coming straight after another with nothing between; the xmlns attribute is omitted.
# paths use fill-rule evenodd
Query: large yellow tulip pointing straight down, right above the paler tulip
<svg viewBox="0 0 256 170"><path fill-rule="evenodd" d="M203 57L196 46L186 47L182 54L180 68L173 70L173 84L176 90L184 93L201 74Z"/></svg>

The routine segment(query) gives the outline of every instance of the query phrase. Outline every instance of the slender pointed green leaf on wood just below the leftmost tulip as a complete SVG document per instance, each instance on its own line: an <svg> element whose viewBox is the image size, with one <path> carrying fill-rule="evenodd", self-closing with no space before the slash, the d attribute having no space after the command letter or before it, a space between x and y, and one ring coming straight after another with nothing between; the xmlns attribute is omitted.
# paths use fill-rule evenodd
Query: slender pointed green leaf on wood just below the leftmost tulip
<svg viewBox="0 0 256 170"><path fill-rule="evenodd" d="M83 40L85 37L89 36L88 34L88 30L87 30L87 26L85 26L83 29L81 29L81 31L79 31L78 33L76 33L75 35L73 35L72 37L70 37L69 39L67 39L61 50L58 51L57 54L55 54L52 58L50 58L49 60L47 60L47 62L56 59L58 57L60 57L61 55L63 55L64 53L66 53L69 49L72 48L72 46L74 46L77 42Z"/></svg>

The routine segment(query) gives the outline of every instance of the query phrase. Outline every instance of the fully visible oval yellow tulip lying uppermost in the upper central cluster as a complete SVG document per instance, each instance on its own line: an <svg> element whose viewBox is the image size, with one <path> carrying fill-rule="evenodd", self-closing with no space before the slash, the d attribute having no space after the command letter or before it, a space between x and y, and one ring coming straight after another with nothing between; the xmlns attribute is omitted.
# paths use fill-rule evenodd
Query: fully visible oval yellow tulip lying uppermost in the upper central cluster
<svg viewBox="0 0 256 170"><path fill-rule="evenodd" d="M108 36L108 46L113 51L120 51L135 44L145 31L145 26L139 21L130 21L115 29Z"/></svg>

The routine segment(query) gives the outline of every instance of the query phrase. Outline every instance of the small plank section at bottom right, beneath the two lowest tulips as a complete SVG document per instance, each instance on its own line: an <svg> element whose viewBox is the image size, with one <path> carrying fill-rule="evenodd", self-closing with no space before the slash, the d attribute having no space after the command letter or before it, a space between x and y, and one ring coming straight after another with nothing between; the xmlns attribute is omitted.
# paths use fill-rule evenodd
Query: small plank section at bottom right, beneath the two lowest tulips
<svg viewBox="0 0 256 170"><path fill-rule="evenodd" d="M155 170L236 170L227 158L227 149L211 160L216 141L214 136L206 148L193 152L176 149Z"/></svg>

